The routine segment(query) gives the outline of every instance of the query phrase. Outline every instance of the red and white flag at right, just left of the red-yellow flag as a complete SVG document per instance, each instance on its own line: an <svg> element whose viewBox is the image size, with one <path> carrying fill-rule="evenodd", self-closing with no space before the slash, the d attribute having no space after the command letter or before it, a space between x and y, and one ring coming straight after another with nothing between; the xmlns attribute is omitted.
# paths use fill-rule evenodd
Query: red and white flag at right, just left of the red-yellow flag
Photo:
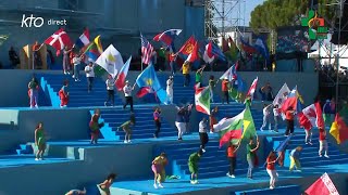
<svg viewBox="0 0 348 195"><path fill-rule="evenodd" d="M325 127L322 108L319 102L303 108L302 112L298 114L298 119L300 125L306 130L310 130L313 127L318 127L318 128Z"/></svg>

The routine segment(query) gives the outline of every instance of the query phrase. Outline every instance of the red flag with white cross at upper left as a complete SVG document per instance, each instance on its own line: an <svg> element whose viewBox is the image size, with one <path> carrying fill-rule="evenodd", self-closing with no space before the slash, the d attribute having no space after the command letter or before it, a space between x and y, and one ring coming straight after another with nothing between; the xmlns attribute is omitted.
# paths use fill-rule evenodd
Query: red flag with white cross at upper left
<svg viewBox="0 0 348 195"><path fill-rule="evenodd" d="M72 46L72 41L63 28L60 28L51 35L51 37L46 39L45 43L53 47L57 50L57 55L60 54L60 51L63 50L65 46Z"/></svg>

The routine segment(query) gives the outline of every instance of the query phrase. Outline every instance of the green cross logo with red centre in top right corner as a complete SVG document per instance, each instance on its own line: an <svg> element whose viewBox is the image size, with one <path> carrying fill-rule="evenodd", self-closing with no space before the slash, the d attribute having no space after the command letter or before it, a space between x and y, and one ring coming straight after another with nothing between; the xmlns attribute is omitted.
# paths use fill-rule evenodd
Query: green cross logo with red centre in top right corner
<svg viewBox="0 0 348 195"><path fill-rule="evenodd" d="M325 26L325 20L318 17L316 12L310 10L308 17L301 20L302 26L308 26L308 36L310 39L326 39L328 28Z"/></svg>

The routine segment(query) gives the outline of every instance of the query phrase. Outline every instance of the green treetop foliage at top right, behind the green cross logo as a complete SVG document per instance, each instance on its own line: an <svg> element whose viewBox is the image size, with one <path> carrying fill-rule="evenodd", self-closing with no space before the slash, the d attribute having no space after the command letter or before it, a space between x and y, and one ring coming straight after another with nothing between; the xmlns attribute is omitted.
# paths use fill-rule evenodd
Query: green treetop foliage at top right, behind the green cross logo
<svg viewBox="0 0 348 195"><path fill-rule="evenodd" d="M266 0L251 12L250 27L258 32L260 28L276 29L281 26L295 26L309 10L310 0ZM331 22L334 6L327 4L335 0L319 0L318 16Z"/></svg>

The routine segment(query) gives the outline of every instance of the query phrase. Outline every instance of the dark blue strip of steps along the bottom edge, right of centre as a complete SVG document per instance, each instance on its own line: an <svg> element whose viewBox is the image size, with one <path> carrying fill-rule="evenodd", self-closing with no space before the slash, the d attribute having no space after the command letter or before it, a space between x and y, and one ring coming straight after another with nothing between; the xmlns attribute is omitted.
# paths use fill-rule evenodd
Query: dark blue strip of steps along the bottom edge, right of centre
<svg viewBox="0 0 348 195"><path fill-rule="evenodd" d="M273 190L270 188L257 188L257 190L248 190L248 191L238 191L231 192L229 195L281 195L281 194L301 194L300 186L298 185L284 185L279 187L275 187Z"/></svg>

